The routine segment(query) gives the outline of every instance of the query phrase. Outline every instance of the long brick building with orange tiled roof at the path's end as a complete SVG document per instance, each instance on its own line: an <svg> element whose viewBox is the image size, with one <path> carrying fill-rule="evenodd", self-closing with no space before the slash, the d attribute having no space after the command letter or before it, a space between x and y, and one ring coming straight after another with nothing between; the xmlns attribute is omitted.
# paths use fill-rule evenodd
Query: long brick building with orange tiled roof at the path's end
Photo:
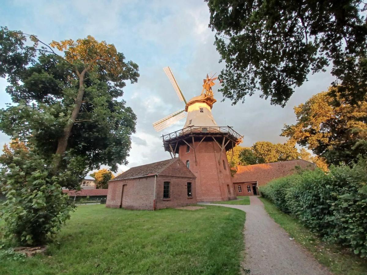
<svg viewBox="0 0 367 275"><path fill-rule="evenodd" d="M296 166L302 169L313 170L316 168L314 163L303 159L237 166L237 173L232 179L236 195L259 195L258 187L264 186L278 177L285 177L297 172Z"/></svg>

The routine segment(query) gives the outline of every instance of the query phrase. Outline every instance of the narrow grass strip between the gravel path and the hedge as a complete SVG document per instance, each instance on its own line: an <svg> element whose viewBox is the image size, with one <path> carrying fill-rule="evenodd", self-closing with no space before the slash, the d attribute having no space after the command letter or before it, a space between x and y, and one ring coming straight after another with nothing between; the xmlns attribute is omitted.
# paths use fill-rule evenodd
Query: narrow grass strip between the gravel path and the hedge
<svg viewBox="0 0 367 275"><path fill-rule="evenodd" d="M284 228L290 237L306 247L320 264L327 266L333 274L362 275L367 274L367 260L356 257L346 250L321 241L308 228L294 217L284 214L266 198L260 197L265 210L276 223Z"/></svg>

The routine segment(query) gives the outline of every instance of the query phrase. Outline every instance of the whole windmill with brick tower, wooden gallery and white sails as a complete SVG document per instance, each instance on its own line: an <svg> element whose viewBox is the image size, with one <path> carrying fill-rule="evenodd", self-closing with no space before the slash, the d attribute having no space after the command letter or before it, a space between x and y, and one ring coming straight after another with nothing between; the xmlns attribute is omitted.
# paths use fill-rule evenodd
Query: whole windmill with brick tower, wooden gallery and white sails
<svg viewBox="0 0 367 275"><path fill-rule="evenodd" d="M169 67L164 72L170 79L177 95L185 102L185 109L179 110L153 123L156 131L172 125L186 117L183 129L163 135L163 147L177 155L196 176L197 201L221 201L235 199L226 152L242 142L243 136L230 126L218 126L211 113L214 99L212 86L217 78L204 79L201 95L186 102L181 89Z"/></svg>

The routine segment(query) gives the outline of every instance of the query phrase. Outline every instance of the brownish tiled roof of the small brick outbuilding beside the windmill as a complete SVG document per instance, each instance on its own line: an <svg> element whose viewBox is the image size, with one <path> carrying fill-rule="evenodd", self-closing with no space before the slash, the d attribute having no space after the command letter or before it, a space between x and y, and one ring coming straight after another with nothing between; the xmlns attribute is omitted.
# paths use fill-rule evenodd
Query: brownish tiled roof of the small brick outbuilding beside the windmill
<svg viewBox="0 0 367 275"><path fill-rule="evenodd" d="M164 169L166 169L168 166L170 166L172 163L174 163L178 159L179 158L171 158L165 161L158 161L158 162L153 162L150 164L132 167L110 181L135 179L139 177L158 175L160 172L162 172Z"/></svg>

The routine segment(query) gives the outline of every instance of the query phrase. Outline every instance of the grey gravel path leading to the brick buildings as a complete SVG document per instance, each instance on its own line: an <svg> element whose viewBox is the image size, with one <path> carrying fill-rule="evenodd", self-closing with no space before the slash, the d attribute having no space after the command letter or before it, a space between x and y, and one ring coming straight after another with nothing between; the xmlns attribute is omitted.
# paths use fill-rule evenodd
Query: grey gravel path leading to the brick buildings
<svg viewBox="0 0 367 275"><path fill-rule="evenodd" d="M258 197L250 197L250 205L212 204L246 212L244 228L246 258L243 268L251 274L331 274L308 251L290 240L264 209Z"/></svg>

